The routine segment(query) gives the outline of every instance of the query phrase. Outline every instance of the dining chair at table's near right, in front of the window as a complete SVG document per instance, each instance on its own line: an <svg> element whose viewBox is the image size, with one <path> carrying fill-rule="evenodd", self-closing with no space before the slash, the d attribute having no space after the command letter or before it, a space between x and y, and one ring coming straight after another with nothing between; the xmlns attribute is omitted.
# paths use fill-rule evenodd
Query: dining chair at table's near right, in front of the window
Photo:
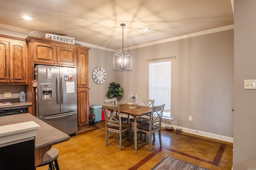
<svg viewBox="0 0 256 170"><path fill-rule="evenodd" d="M149 143L150 151L152 151L151 137L153 135L153 139L156 139L154 134L157 131L158 131L160 146L162 146L161 122L162 122L162 116L163 116L163 112L164 112L164 106L165 106L165 104L162 104L159 106L153 106L152 112L150 113L150 121L142 122L137 125L138 133L142 132L142 133L148 134L148 143Z"/></svg>

